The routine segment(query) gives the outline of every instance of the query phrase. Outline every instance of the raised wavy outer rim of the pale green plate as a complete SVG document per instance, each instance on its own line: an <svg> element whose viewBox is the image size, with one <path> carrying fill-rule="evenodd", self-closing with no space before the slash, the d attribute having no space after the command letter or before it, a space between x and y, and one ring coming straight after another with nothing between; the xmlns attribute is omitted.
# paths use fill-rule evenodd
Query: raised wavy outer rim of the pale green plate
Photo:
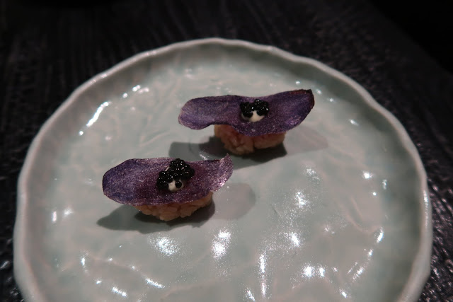
<svg viewBox="0 0 453 302"><path fill-rule="evenodd" d="M319 69L326 74L329 74L336 78L339 81L350 86L354 89L359 95L365 100L365 103L369 105L372 109L377 110L386 120L391 124L394 129L396 129L396 134L401 140L401 143L406 149L406 151L411 155L411 159L415 164L415 168L418 172L420 178L420 245L418 246L418 252L413 258L413 263L411 267L411 273L409 274L408 280L406 281L401 295L398 297L397 301L415 301L418 300L420 294L425 286L425 283L430 275L430 260L431 260L431 250L432 250L432 216L431 216L431 203L428 196L428 180L423 167L423 163L418 154L413 141L409 137L406 129L403 127L403 124L396 119L394 115L386 110L382 105L377 103L372 95L369 94L365 88L360 86L355 80L351 79L349 76L333 69L332 67L317 61L316 59L311 59L309 57L303 57L297 54L292 54L285 50L281 50L275 46L270 45L261 45L255 42L248 42L246 40L231 40L224 39L220 37L209 37L202 38L197 40L188 40L184 42L176 42L164 47L159 47L154 50L148 50L144 52L139 52L134 54L132 57L123 60L115 64L96 76L91 77L88 81L82 83L77 87L69 97L64 100L64 102L59 105L57 110L50 115L50 117L42 124L38 134L35 135L33 141L31 142L27 154L25 156L25 161L21 168L21 172L18 177L17 185L17 200L16 200L16 221L13 230L13 274L21 294L26 301L45 301L44 296L42 296L42 291L40 291L40 286L36 282L33 270L30 265L28 265L28 257L25 255L27 248L27 241L25 240L25 227L26 227L26 217L27 217L27 207L28 204L28 195L25 188L30 181L30 169L35 162L36 156L38 156L38 151L40 149L42 139L47 131L49 131L52 126L57 121L59 115L62 115L63 112L69 109L69 107L74 103L79 95L84 93L88 88L95 85L98 82L105 81L110 75L122 71L122 69L127 69L133 64L147 59L149 57L157 57L160 54L165 52L173 52L175 50L182 50L189 47L197 47L200 45L221 45L226 47L236 46L243 47L248 50L253 50L256 52L268 52L274 56L280 57L282 59L287 59L291 62L297 62L302 64L309 64L314 66L316 69Z"/></svg>

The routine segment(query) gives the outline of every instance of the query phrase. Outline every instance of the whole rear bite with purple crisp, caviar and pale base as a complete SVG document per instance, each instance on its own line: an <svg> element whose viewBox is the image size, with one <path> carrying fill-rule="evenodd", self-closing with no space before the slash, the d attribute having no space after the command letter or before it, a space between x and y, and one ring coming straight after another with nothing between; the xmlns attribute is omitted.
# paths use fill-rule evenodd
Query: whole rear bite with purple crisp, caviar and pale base
<svg viewBox="0 0 453 302"><path fill-rule="evenodd" d="M311 90L285 91L261 97L208 96L188 100L178 121L190 129L214 124L214 135L235 154L281 144L314 107Z"/></svg>

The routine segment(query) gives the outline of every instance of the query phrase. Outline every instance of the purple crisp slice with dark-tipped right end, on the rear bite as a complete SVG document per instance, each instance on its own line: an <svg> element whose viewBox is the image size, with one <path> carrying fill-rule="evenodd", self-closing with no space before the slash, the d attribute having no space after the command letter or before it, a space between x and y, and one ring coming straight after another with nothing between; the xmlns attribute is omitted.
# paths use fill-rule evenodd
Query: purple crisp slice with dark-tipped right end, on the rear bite
<svg viewBox="0 0 453 302"><path fill-rule="evenodd" d="M257 99L268 103L268 113L258 122L248 122L241 117L241 103L253 103ZM256 137L287 132L305 120L313 106L311 89L285 91L256 98L241 95L207 96L193 98L185 103L178 120L185 127L197 130L211 124L229 124L241 134Z"/></svg>

